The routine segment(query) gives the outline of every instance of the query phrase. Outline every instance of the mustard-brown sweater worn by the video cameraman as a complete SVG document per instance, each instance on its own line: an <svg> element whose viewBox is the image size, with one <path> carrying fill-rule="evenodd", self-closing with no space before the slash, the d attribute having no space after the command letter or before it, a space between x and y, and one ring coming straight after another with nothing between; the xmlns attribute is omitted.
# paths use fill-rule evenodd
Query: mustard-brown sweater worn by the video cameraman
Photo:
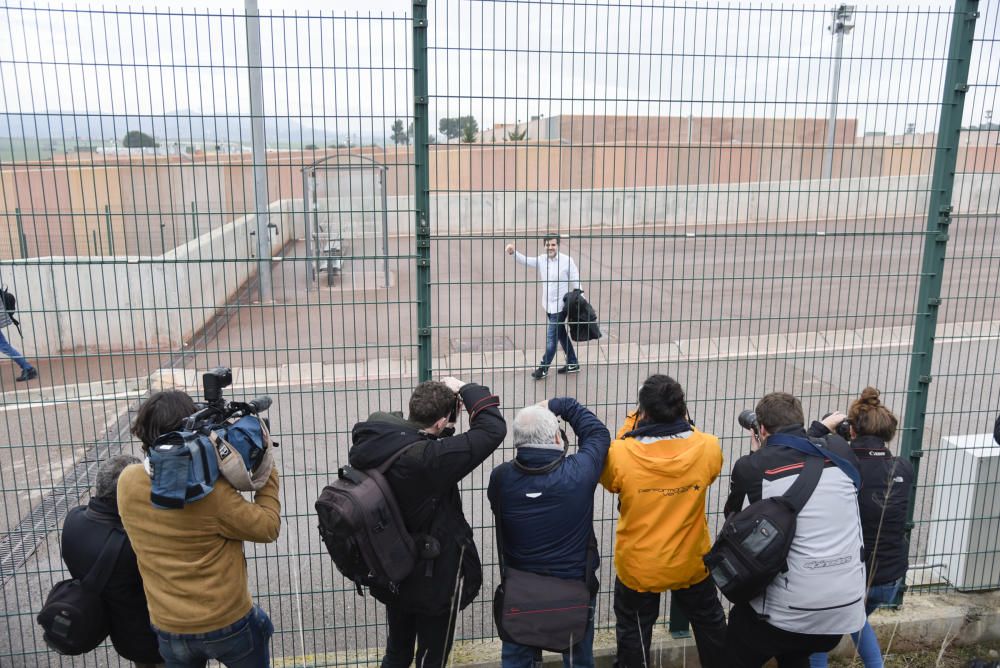
<svg viewBox="0 0 1000 668"><path fill-rule="evenodd" d="M118 508L153 625L169 633L206 633L244 617L253 602L243 541L278 538L277 466L252 503L221 478L208 496L181 509L154 508L150 488L141 464L118 479Z"/></svg>

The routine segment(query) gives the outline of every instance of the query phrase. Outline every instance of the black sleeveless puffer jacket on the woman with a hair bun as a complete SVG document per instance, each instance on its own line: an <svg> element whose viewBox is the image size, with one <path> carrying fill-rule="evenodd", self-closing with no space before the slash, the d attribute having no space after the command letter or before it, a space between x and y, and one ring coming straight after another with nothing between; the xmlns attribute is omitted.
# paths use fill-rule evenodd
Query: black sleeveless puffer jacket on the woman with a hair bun
<svg viewBox="0 0 1000 668"><path fill-rule="evenodd" d="M829 433L821 422L809 427L811 436ZM894 457L877 436L858 436L851 441L851 451L861 473L858 507L868 580L872 585L888 584L906 575L910 566L906 510L913 488L913 466Z"/></svg>

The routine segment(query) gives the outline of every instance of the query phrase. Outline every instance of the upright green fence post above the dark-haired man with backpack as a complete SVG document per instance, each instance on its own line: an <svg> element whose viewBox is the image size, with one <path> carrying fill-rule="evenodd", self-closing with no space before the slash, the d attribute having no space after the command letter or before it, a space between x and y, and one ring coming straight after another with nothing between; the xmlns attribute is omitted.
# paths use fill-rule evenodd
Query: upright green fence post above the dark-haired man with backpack
<svg viewBox="0 0 1000 668"><path fill-rule="evenodd" d="M417 235L417 364L431 374L430 157L427 144L427 0L413 0L413 204Z"/></svg>

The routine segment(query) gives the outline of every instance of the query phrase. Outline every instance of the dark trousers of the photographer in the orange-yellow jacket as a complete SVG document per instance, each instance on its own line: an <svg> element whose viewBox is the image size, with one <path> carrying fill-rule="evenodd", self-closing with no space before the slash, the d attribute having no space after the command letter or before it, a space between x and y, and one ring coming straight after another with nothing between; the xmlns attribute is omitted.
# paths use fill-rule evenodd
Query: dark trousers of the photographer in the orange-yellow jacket
<svg viewBox="0 0 1000 668"><path fill-rule="evenodd" d="M712 578L670 592L691 622L703 668L724 668L726 616ZM615 636L618 668L652 668L649 646L660 616L660 594L629 589L615 578Z"/></svg>

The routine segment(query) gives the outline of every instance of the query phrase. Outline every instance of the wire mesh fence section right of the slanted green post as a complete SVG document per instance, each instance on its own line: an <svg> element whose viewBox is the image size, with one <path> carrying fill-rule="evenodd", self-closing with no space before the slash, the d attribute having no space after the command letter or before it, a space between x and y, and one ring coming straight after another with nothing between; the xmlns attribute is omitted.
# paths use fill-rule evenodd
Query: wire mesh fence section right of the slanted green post
<svg viewBox="0 0 1000 668"><path fill-rule="evenodd" d="M996 588L1000 580L1000 449L993 440L997 419L996 324L987 329L949 325L976 314L995 320L997 294L988 285L1000 280L996 263L996 222L1000 215L1000 12L992 3L965 7L965 20L977 17L971 41L969 74L958 82L965 97L957 139L955 194L949 238L941 263L941 288L930 405L923 432L921 494L915 536L926 538L927 581L960 589ZM964 84L964 85L963 85ZM947 91L946 91L947 94ZM959 184L969 184L962 189ZM975 199L972 190L982 192ZM982 279L982 283L980 283Z"/></svg>

